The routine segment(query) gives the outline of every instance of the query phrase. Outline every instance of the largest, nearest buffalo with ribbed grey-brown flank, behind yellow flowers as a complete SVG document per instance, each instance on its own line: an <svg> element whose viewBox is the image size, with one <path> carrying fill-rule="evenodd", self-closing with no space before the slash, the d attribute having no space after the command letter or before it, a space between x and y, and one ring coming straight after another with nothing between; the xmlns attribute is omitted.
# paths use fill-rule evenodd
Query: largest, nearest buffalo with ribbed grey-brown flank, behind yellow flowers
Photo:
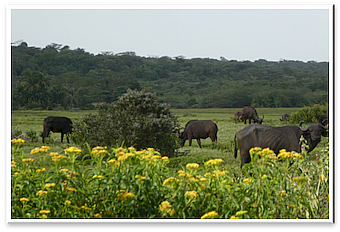
<svg viewBox="0 0 340 232"><path fill-rule="evenodd" d="M237 147L240 149L241 168L245 163L251 161L249 150L253 147L267 148L269 147L278 154L281 149L287 151L301 152L299 144L300 137L307 140L309 146L308 152L312 151L321 141L321 136L328 137L328 126L323 126L320 123L309 125L307 128L302 127L301 121L299 126L284 126L271 127L265 125L249 125L235 134L234 156L237 157Z"/></svg>

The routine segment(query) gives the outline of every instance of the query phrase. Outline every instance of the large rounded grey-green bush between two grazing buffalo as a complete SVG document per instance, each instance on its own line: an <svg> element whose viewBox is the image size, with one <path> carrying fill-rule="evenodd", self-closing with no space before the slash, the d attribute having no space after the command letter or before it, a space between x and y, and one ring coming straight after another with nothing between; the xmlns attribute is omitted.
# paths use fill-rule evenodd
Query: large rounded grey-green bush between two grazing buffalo
<svg viewBox="0 0 340 232"><path fill-rule="evenodd" d="M153 93L128 90L116 102L96 104L96 108L98 115L87 114L75 124L76 142L154 147L170 156L178 147L172 133L178 127L177 117L170 112L170 105L157 102Z"/></svg>

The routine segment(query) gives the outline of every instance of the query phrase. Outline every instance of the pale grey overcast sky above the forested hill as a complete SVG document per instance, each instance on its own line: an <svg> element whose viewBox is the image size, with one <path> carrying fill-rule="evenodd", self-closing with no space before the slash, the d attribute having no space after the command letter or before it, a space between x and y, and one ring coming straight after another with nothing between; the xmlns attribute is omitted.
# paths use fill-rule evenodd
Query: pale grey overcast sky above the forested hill
<svg viewBox="0 0 340 232"><path fill-rule="evenodd" d="M41 48L329 61L327 9L12 9L10 19L10 42Z"/></svg>

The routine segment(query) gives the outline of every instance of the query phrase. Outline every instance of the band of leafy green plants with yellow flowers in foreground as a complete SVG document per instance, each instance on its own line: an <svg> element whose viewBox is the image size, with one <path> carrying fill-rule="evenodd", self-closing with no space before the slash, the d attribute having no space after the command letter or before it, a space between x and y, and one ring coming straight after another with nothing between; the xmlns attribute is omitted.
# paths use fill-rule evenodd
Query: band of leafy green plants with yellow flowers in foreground
<svg viewBox="0 0 340 232"><path fill-rule="evenodd" d="M244 174L232 176L222 159L173 173L153 148L89 147L79 160L76 147L26 155L23 140L11 142L12 218L329 217L328 149L311 160L306 152L253 148Z"/></svg>

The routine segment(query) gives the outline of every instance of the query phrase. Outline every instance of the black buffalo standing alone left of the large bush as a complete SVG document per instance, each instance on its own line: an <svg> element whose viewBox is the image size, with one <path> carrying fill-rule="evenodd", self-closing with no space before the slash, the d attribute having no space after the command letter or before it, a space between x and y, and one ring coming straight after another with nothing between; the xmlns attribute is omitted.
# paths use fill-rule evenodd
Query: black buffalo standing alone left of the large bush
<svg viewBox="0 0 340 232"><path fill-rule="evenodd" d="M44 119L43 126L43 143L45 143L45 137L48 137L50 131L61 133L61 142L63 142L64 134L66 134L67 142L70 143L68 133L72 133L72 121L69 118L50 116Z"/></svg>

